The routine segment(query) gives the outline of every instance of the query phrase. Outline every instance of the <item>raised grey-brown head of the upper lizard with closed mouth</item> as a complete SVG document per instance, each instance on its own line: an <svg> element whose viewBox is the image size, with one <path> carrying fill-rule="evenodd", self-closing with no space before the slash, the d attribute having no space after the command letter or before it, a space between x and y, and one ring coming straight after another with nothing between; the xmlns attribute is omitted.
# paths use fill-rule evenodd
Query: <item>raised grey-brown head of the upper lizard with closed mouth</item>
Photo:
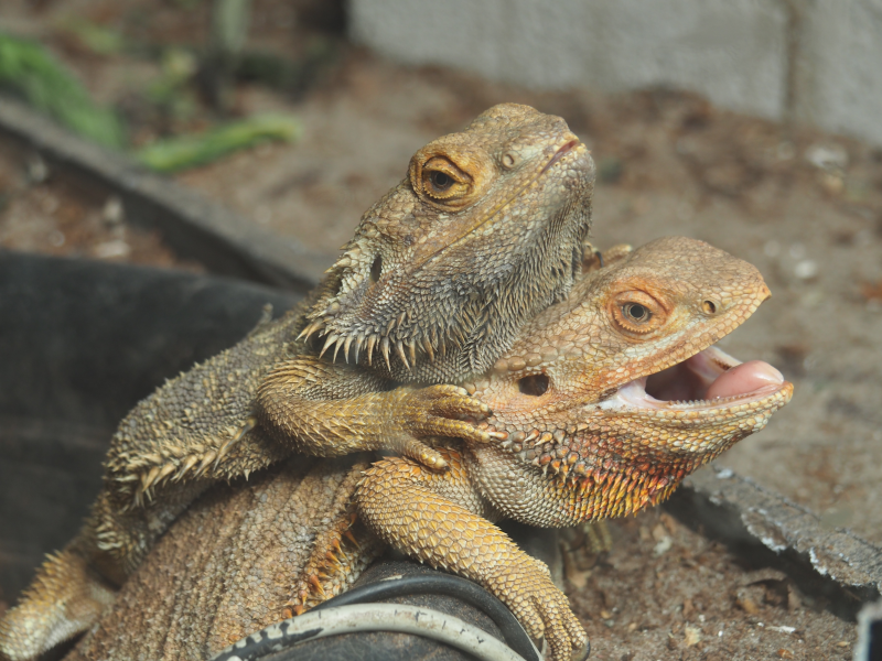
<svg viewBox="0 0 882 661"><path fill-rule="evenodd" d="M569 292L593 180L562 119L494 106L413 154L344 246L304 333L409 381L480 373Z"/></svg>

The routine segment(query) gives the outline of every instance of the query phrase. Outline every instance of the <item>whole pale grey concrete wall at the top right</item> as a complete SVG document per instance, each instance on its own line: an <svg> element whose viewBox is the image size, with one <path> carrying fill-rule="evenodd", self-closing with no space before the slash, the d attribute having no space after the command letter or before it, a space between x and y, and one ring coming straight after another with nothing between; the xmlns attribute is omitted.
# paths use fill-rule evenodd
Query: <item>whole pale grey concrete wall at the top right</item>
<svg viewBox="0 0 882 661"><path fill-rule="evenodd" d="M882 0L349 0L356 41L538 89L666 85L882 144Z"/></svg>

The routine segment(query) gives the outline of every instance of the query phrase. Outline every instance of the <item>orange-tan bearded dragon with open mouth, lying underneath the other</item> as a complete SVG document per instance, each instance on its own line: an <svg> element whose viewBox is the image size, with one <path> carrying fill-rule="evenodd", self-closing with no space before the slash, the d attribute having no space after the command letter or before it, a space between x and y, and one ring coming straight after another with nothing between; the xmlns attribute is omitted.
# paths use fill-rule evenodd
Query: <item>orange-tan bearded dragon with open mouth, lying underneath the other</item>
<svg viewBox="0 0 882 661"><path fill-rule="evenodd" d="M344 589L383 543L483 584L556 660L569 659L585 635L566 596L493 521L560 527L634 513L762 429L792 384L712 345L767 296L753 267L700 241L620 253L465 383L493 409L481 423L496 432L488 443L439 447L445 472L410 458L366 469L301 458L214 491L71 659L209 658L292 604ZM345 552L329 559L334 540Z"/></svg>

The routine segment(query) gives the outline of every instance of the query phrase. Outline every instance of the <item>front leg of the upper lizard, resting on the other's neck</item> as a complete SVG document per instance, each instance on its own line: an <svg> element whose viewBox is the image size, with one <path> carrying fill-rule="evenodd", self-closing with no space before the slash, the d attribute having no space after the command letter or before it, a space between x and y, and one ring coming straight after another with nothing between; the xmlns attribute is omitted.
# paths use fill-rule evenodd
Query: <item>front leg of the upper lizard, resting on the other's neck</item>
<svg viewBox="0 0 882 661"><path fill-rule="evenodd" d="M491 434L456 418L483 419L490 408L455 386L402 386L315 356L297 356L263 379L257 392L260 425L279 443L319 456L390 449L432 467L443 457L420 438Z"/></svg>

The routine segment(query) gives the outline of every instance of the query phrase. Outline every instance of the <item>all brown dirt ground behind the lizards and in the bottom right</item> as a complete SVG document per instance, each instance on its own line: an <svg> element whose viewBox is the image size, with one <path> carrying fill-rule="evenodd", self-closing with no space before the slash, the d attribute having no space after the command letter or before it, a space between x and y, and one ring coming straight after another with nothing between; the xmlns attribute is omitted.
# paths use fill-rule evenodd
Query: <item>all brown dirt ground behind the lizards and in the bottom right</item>
<svg viewBox="0 0 882 661"><path fill-rule="evenodd" d="M159 75L143 57L84 54L52 28L71 11L128 25L121 3L56 0L39 3L41 12L23 0L3 4L0 29L43 39L105 101L121 104ZM204 14L183 6L161 3L139 34L201 39ZM251 42L295 56L284 37L298 24L279 18L284 7L255 3L262 28ZM330 262L427 141L501 101L564 117L599 165L598 246L691 236L753 262L772 289L773 299L721 345L777 366L795 395L718 463L882 545L882 149L721 111L681 93L538 94L333 43L335 61L299 98L236 87L238 112L295 115L298 143L241 152L179 181ZM187 126L200 121L204 113ZM136 126L138 141L160 131L151 120ZM39 175L26 158L0 154L0 247L180 266L161 237L126 229L112 201L78 199ZM781 576L739 566L658 512L613 530L609 557L571 576L584 588L572 596L588 619L592 658L850 657L853 626L816 611Z"/></svg>

